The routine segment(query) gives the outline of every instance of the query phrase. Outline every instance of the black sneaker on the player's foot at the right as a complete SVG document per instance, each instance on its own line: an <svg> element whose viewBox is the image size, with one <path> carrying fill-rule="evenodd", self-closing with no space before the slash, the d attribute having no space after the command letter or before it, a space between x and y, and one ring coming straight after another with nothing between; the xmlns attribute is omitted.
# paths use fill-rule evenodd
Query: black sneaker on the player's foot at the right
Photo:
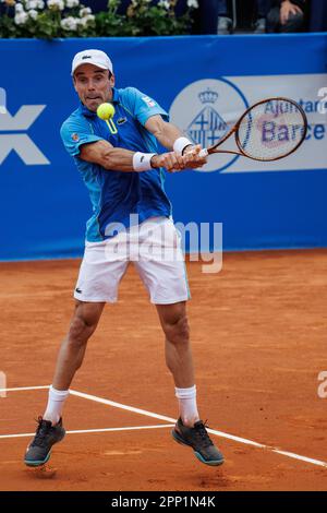
<svg viewBox="0 0 327 513"><path fill-rule="evenodd" d="M206 425L198 420L193 428L187 428L179 418L174 429L171 431L172 438L183 445L190 445L197 460L206 465L221 465L223 456L214 445L213 440L207 433Z"/></svg>

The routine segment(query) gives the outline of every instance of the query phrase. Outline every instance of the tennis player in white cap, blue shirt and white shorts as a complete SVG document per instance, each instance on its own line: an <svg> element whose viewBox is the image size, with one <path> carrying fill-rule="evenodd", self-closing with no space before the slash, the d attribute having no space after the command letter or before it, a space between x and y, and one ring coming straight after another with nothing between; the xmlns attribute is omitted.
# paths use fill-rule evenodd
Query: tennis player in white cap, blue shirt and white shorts
<svg viewBox="0 0 327 513"><path fill-rule="evenodd" d="M88 189L93 216L86 225L85 253L74 291L75 310L59 351L48 405L38 419L25 464L45 464L52 445L63 439L62 408L69 387L106 302L117 301L119 283L133 260L166 336L166 361L179 403L172 437L192 448L201 462L220 465L222 454L197 410L185 307L190 298L187 279L171 204L164 190L164 168L198 168L206 157L198 155L199 145L194 146L168 122L167 112L157 102L134 87L114 87L112 62L105 52L76 53L72 79L81 103L62 124L61 136ZM114 107L110 126L96 115L102 103ZM168 151L158 154L157 142ZM140 241L143 247L173 248L179 258L140 253Z"/></svg>

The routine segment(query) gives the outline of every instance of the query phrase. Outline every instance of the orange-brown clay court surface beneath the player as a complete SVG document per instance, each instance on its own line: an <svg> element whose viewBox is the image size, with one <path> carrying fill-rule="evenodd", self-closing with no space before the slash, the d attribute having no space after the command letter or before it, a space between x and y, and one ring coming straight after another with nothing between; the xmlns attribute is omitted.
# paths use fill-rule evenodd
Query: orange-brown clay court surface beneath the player
<svg viewBox="0 0 327 513"><path fill-rule="evenodd" d="M1 490L326 490L327 398L317 389L327 370L327 250L227 253L219 274L187 263L198 403L226 456L221 467L171 439L177 404L164 336L130 267L73 382L69 433L50 461L57 473L28 472L23 454L45 407L78 266L0 264L0 370L7 389L31 387L0 398Z"/></svg>

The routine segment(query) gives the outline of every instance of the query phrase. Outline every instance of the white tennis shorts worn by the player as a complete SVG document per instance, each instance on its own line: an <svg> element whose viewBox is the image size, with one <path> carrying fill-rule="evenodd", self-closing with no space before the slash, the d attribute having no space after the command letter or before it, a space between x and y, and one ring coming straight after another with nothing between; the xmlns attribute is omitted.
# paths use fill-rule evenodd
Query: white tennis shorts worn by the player
<svg viewBox="0 0 327 513"><path fill-rule="evenodd" d="M86 241L75 299L116 302L130 262L134 263L153 303L190 299L181 238L167 217L149 218L101 242Z"/></svg>

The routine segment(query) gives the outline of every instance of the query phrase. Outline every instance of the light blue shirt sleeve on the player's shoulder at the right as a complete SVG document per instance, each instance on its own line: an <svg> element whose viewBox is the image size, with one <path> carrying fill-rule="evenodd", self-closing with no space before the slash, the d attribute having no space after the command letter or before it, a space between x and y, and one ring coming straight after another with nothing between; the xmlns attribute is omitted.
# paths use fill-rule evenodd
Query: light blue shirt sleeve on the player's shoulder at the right
<svg viewBox="0 0 327 513"><path fill-rule="evenodd" d="M152 116L160 115L165 121L169 121L169 116L159 104L149 96L146 96L135 87L124 90L123 100L129 110L135 116L141 124L145 124Z"/></svg>

